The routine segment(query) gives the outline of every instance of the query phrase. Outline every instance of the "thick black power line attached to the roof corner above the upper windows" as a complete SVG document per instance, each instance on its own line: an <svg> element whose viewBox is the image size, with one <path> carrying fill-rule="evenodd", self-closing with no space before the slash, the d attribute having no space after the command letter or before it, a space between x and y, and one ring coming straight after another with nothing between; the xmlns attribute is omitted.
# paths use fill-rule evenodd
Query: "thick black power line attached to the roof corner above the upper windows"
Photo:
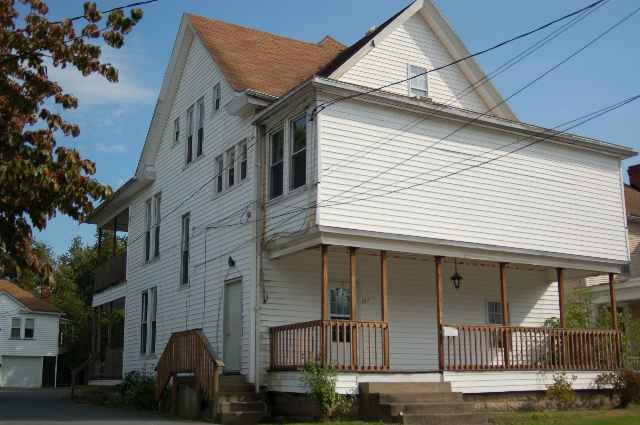
<svg viewBox="0 0 640 425"><path fill-rule="evenodd" d="M581 8L581 9L578 9L578 10L576 10L576 11L574 11L574 12L571 12L571 13L568 13L568 14L566 14L566 15L564 15L564 16L561 16L560 18L557 18L557 19L554 19L554 20L552 20L552 21L550 21L550 22L547 22L546 24L543 24L543 25L541 25L541 26L539 26L539 27L537 27L537 28L534 28L534 29L532 29L532 30L530 30L530 31L527 31L527 32L524 32L524 33L522 33L522 34L516 35L515 37L512 37L512 38L510 38L510 39L508 39L508 40L502 41L502 42L500 42L500 43L498 43L498 44L495 44L495 45L493 45L493 46L491 46L491 47L488 47L488 48L486 48L486 49L484 49L484 50L480 50L480 51L478 51L478 52L475 52L475 53L469 54L469 55L464 56L464 57L462 57L462 58L460 58L460 59L456 59L456 60L454 60L453 62L450 62L450 63L448 63L448 64L445 64L445 65L442 65L442 66L439 66L439 67L436 67L436 68L433 68L433 69L427 70L427 71L425 71L425 72L422 72L422 73L416 74L416 75L414 75L414 76L412 76L412 77L408 77L408 78L405 78L405 79L402 79L402 80L398 80L398 81L394 81L394 82L391 82L391 83L388 83L388 84L384 84L384 85L379 86L379 87L375 87L375 88L372 88L372 89L365 90L364 92L354 93L354 94L350 94L350 95L346 95L346 96L341 96L341 97L338 97L338 98L336 98L336 99L333 99L333 100L330 100L330 101L327 101L327 102L321 103L320 105L318 105L318 106L316 106L316 107L314 108L314 110L313 110L313 112L312 112L312 117L313 117L313 115L317 114L318 112L320 112L320 111L322 111L322 110L324 110L324 109L328 108L328 107L329 107L329 106L331 106L331 105L334 105L334 104L336 104L336 103L338 103L338 102L341 102L341 101L343 101L343 100L353 99L353 98L355 98L355 97L360 97L360 96L364 96L364 95L367 95L367 94L370 94L370 93L374 93L374 92L377 92L377 91L380 91L380 90L384 90L384 89L386 89L386 88L389 88L389 87L395 86L395 85L397 85L397 84L406 83L407 81L410 81L410 80L412 80L412 79L414 79L414 78L418 78L418 77L421 77L421 76L423 76L423 75L430 74L430 73L432 73L432 72L440 71L440 70L442 70L442 69L445 69L445 68L448 68L448 67L450 67L450 66L456 65L456 64L458 64L458 63L460 63L460 62L463 62L463 61L469 60L469 59L474 58L474 57L476 57L476 56L480 56L480 55L483 55L483 54L485 54L485 53L491 52L491 51L496 50L496 49L498 49L498 48L500 48L500 47L503 47L503 46L505 46L505 45L507 45L507 44L513 43L514 41L517 41L517 40L520 40L520 39L526 38L526 37L528 37L528 36L530 36L530 35L532 35L532 34L535 34L535 33L539 32L539 31L542 31L542 30L544 30L544 29L546 29L546 28L549 28L549 27L551 27L551 26L553 26L553 25L557 24L558 22L561 22L561 21L564 21L564 20L566 20L566 19L569 19L569 18L571 18L571 17L573 17L573 16L576 16L576 15L578 15L578 14L580 14L580 13L582 13L582 12L586 11L586 10L589 10L589 9L591 9L591 8L594 8L594 7L598 6L600 3L603 3L604 1L606 1L606 0L598 0L598 1L596 1L596 2L591 3L591 4L590 4L590 5L588 5L588 6L585 6L585 7Z"/></svg>

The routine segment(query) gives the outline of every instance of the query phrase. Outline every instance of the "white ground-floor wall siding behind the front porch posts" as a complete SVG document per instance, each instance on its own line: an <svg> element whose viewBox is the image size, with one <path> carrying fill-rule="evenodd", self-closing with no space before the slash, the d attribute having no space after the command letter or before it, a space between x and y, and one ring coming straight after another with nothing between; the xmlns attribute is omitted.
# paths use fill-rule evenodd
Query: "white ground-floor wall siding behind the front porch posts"
<svg viewBox="0 0 640 425"><path fill-rule="evenodd" d="M358 319L380 319L380 266L376 252L359 251ZM515 267L515 266L514 266ZM495 264L459 265L464 277L456 290L448 278L444 285L444 320L455 324L487 323L487 302L500 301ZM269 328L320 319L320 251L310 249L264 264L260 307L262 368L269 367ZM445 263L444 276L453 274ZM542 326L558 317L557 284L546 271L508 269L509 304L513 325ZM438 368L433 257L389 259L389 311L391 369L433 371ZM348 257L344 248L329 250L330 287L348 287Z"/></svg>

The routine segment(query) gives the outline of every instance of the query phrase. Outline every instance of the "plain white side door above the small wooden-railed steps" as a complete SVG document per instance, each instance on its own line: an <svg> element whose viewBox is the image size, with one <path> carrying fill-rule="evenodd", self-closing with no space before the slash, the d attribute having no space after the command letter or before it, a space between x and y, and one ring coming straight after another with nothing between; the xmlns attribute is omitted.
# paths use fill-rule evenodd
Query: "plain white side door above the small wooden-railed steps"
<svg viewBox="0 0 640 425"><path fill-rule="evenodd" d="M242 282L225 284L224 288L224 371L240 372L240 337L242 336Z"/></svg>

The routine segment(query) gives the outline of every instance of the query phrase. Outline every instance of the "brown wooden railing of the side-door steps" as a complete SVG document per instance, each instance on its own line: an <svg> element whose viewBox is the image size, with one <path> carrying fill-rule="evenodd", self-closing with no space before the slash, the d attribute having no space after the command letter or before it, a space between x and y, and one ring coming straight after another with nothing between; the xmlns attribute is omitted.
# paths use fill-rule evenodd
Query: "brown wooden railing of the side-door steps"
<svg viewBox="0 0 640 425"><path fill-rule="evenodd" d="M216 359L202 330L176 332L169 338L156 367L156 399L162 398L172 377L185 373L194 375L207 399L215 400L222 367L224 364Z"/></svg>

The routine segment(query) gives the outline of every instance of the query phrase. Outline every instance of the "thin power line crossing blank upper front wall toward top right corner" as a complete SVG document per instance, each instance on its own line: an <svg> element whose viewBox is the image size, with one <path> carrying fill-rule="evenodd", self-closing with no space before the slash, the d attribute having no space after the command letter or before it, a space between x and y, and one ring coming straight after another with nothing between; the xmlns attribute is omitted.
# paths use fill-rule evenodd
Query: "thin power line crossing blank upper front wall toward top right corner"
<svg viewBox="0 0 640 425"><path fill-rule="evenodd" d="M477 115L476 117L472 118L471 120L466 121L463 125L455 128L453 131L449 132L446 136L438 139L436 142L432 143L431 145L418 150L417 152L411 154L409 157L403 159L400 162L397 162L389 167L387 167L386 169L378 172L377 174L375 174L373 177L370 177L366 180L363 180L362 182L356 184L355 186L352 186L350 188L347 188L345 190L342 190L340 193L338 193L337 195L332 195L329 199L327 199L327 201L330 201L331 199L334 199L336 197L339 197L345 193L349 193L351 191L353 191L354 189L357 189L359 187L362 187L363 185L377 179L378 177L388 173L389 171L397 168L398 166L406 163L407 161L410 161L414 158L416 158L419 155L422 155L424 152L434 148L435 146L439 145L440 143L442 143L443 141L447 140L449 137L459 133L460 131L462 131L463 129L467 128L469 125L477 122L480 118L485 117L487 115L489 115L491 113L491 111L497 107L499 107L500 105L506 103L507 101L509 101L510 99L513 99L515 96L519 95L520 93L522 93L523 91L525 91L526 89L528 89L529 87L533 86L535 83L537 83L538 81L542 80L543 78L545 78L547 75L551 74L552 72L554 72L555 70L557 70L558 68L560 68L562 65L564 65L565 63L569 62L571 59L573 59L574 57L578 56L580 53L582 53L583 51L585 51L586 49L588 49L589 47L591 47L593 44L595 44L597 41L599 41L600 39L602 39L603 37L605 37L607 34L609 34L611 31L613 31L614 29L616 29L617 27L619 27L620 25L622 25L623 23L625 23L626 21L628 21L629 19L631 19L634 15L636 15L638 12L640 11L640 7L634 9L631 13L625 15L622 19L618 20L615 24L609 26L606 30L604 30L603 32L601 32L600 34L598 34L596 37L594 37L593 39L591 39L589 42L587 42L586 44L584 44L582 47L580 47L579 49L575 50L573 53L571 53L569 56L565 57L564 59L562 59L560 62L556 63L555 65L553 65L552 67L550 67L549 69L547 69L546 71L544 71L542 74L540 74L539 76L537 76L536 78L534 78L533 80L531 80L530 82L528 82L527 84L525 84L524 86L520 87L518 90L516 90L515 92L513 92L511 95L509 95L509 97L503 99L500 103L496 104L495 106L493 106L492 108L490 108L489 110L487 110L486 112L480 113L479 115ZM428 118L425 117L424 120L426 120ZM417 125L417 124L416 124ZM417 176L413 176L412 178L417 177Z"/></svg>

